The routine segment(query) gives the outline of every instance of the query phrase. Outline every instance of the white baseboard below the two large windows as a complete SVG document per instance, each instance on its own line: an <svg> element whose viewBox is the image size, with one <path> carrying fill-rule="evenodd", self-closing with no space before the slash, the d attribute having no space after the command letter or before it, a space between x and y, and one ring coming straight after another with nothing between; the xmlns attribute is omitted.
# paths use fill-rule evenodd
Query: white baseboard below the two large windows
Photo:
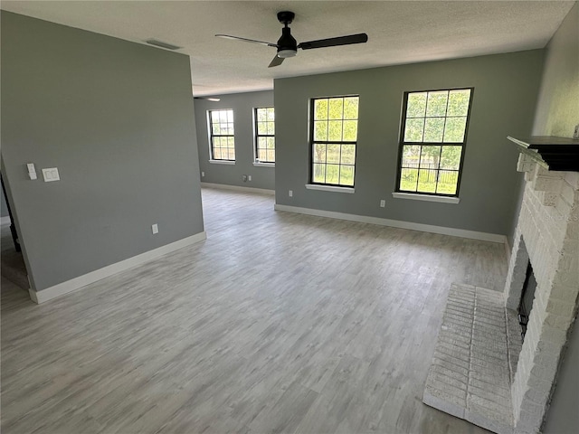
<svg viewBox="0 0 579 434"><path fill-rule="evenodd" d="M505 243L507 237L498 233L487 233L477 231L466 231L464 229L446 228L444 226L433 226L431 224L403 222L400 220L382 219L379 217L369 217L366 215L346 214L345 212L333 212L314 210L312 208L300 208L298 206L280 205L273 206L276 211L298 212L299 214L317 215L318 217L329 217L330 219L347 220L350 222L361 222L378 224L380 226L392 226L393 228L409 229L411 231L422 231L440 233L441 235L451 235L453 237L469 238L471 240L492 241Z"/></svg>

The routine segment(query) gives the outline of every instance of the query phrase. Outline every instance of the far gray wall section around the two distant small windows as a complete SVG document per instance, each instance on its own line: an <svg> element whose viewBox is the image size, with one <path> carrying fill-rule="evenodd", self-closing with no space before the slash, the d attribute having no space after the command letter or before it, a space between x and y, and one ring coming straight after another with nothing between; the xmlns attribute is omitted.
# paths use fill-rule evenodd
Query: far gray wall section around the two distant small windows
<svg viewBox="0 0 579 434"><path fill-rule="evenodd" d="M205 174L201 181L273 190L275 188L275 168L253 165L253 108L273 106L273 91L219 95L219 98L221 98L219 102L195 99L199 165ZM211 154L207 131L207 110L217 109L233 109L235 165L209 163ZM244 183L242 175L252 175L252 181Z"/></svg>

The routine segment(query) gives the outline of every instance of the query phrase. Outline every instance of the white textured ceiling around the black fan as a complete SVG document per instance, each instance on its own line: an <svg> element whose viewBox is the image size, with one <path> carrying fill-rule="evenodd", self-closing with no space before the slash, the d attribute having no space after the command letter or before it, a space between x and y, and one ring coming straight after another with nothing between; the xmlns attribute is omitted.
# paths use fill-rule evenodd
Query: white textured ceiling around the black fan
<svg viewBox="0 0 579 434"><path fill-rule="evenodd" d="M543 48L574 2L563 1L3 1L17 14L133 42L184 47L195 96L267 90L273 79ZM368 33L365 44L299 51L268 68L275 49L215 38L280 37L276 13L296 13L298 40Z"/></svg>

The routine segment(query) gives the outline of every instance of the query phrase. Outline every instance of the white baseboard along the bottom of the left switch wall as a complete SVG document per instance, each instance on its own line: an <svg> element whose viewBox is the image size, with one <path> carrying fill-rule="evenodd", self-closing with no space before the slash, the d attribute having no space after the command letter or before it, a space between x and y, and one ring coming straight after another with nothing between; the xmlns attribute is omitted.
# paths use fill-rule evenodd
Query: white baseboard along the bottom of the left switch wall
<svg viewBox="0 0 579 434"><path fill-rule="evenodd" d="M195 242L204 241L207 238L205 231L196 233L190 237L184 238L183 240L171 242L165 246L158 247L157 249L146 251L140 255L133 256L132 258L121 260L115 264L108 265L102 269L95 269L90 271L90 273L79 276L78 278L71 278L65 282L54 285L50 288L45 288L41 291L34 291L32 288L28 289L28 294L33 302L41 304L45 301L52 300L52 298L64 296L70 292L76 291L78 289L84 288L91 283L94 283L101 278L108 278L120 271L125 271L127 269L132 269L138 265L144 264L145 262L157 259L160 256L166 255L175 250L183 249L186 246L195 244Z"/></svg>

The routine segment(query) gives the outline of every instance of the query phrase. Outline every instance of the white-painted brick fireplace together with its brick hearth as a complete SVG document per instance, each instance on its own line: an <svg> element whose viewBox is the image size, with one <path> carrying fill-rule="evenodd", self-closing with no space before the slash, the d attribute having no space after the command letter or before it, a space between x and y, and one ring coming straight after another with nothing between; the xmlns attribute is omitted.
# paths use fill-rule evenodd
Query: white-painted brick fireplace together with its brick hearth
<svg viewBox="0 0 579 434"><path fill-rule="evenodd" d="M579 294L579 172L548 171L532 154L517 170L525 191L504 292L451 286L422 396L498 434L540 431ZM523 341L517 314L529 270L535 297Z"/></svg>

